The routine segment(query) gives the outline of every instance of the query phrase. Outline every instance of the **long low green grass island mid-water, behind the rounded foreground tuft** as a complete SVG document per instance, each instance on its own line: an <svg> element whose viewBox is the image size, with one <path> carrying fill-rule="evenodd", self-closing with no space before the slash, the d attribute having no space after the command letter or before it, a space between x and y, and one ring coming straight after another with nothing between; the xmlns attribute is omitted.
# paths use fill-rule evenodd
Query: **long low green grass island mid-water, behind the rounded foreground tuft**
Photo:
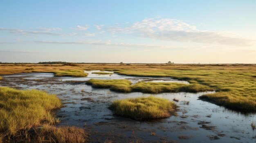
<svg viewBox="0 0 256 143"><path fill-rule="evenodd" d="M110 90L118 92L144 92L144 93L160 93L160 92L204 92L213 91L210 88L201 84L181 84L173 82L143 82L131 85L131 81L127 79L90 79L86 82L95 88L110 88Z"/></svg>

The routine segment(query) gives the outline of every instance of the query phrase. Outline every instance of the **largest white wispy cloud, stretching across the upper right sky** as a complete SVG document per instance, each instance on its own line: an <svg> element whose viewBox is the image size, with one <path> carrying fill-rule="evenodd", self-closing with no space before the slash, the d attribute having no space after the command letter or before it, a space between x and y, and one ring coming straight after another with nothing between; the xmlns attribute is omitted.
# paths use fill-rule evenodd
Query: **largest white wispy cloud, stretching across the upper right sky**
<svg viewBox="0 0 256 143"><path fill-rule="evenodd" d="M157 40L175 42L198 42L207 44L225 44L247 46L254 40L238 37L229 32L201 31L181 20L146 18L130 26L116 25L108 27L111 33L133 34Z"/></svg>

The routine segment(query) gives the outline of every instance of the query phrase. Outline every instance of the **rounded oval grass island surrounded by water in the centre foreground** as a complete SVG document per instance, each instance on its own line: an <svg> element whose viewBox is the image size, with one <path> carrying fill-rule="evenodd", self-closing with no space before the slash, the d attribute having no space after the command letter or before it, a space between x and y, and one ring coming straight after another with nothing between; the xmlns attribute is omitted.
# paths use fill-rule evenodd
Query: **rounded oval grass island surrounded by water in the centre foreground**
<svg viewBox="0 0 256 143"><path fill-rule="evenodd" d="M175 113L172 101L157 97L138 97L113 101L110 109L123 117L136 120L168 118Z"/></svg>

